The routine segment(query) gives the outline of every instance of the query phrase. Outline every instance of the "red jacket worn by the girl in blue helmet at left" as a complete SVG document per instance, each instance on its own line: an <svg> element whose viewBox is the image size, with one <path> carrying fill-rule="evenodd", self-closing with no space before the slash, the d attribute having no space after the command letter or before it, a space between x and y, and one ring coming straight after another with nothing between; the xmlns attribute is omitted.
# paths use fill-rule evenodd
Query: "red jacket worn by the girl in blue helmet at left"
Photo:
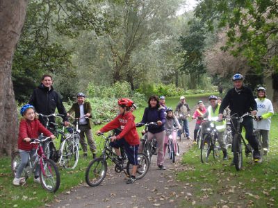
<svg viewBox="0 0 278 208"><path fill-rule="evenodd" d="M44 136L53 135L47 128L45 128L42 123L38 119L34 119L33 121L28 121L26 119L22 119L19 123L19 134L18 134L18 148L20 150L32 150L36 148L36 145L30 144L29 142L24 142L24 138L35 139L38 138L40 133L44 134Z"/></svg>

